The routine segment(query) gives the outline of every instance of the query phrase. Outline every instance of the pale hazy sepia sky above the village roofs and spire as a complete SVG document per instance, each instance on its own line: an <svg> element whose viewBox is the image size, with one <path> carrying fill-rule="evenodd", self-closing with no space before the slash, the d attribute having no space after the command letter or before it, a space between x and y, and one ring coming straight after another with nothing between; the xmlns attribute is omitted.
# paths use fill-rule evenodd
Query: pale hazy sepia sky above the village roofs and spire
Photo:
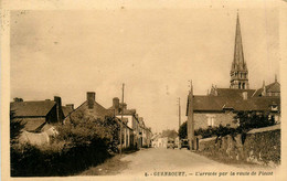
<svg viewBox="0 0 287 181"><path fill-rule="evenodd" d="M249 87L279 74L278 11L240 9ZM53 99L79 106L86 92L108 108L136 108L152 131L178 129L189 79L195 95L230 86L237 9L12 11L11 100Z"/></svg>

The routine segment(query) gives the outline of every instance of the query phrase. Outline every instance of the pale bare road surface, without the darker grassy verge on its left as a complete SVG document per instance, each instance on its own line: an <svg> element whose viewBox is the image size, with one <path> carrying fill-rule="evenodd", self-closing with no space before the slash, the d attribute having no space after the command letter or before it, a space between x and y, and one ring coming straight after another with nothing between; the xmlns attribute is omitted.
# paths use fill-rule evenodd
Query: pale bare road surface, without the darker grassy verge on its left
<svg viewBox="0 0 287 181"><path fill-rule="evenodd" d="M155 172L183 171L187 174L204 172L246 171L246 166L228 166L213 161L190 150L151 148L144 149L120 159L128 161L127 169L120 174L151 174ZM249 169L248 169L249 170Z"/></svg>

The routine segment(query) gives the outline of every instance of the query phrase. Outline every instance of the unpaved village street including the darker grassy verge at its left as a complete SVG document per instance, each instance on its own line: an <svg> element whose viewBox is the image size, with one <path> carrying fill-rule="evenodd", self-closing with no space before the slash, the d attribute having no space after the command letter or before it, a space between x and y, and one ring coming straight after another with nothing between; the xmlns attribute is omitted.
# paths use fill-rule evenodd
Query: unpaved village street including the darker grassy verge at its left
<svg viewBox="0 0 287 181"><path fill-rule="evenodd" d="M223 171L244 174L252 170L266 170L266 168L255 168L251 164L224 164L184 149L150 148L123 155L121 158L118 157L117 161L108 161L91 168L83 174L155 175L164 174L164 172L184 172L185 175L200 175L213 172L219 174Z"/></svg>

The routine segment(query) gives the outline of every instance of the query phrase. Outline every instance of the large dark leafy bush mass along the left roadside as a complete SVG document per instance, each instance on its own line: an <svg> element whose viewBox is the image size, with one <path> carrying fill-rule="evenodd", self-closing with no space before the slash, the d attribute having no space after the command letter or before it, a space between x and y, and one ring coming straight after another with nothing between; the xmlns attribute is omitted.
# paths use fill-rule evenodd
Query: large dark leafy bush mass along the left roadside
<svg viewBox="0 0 287 181"><path fill-rule="evenodd" d="M102 163L117 151L117 120L77 116L59 125L60 135L51 145L11 145L12 177L71 175Z"/></svg>

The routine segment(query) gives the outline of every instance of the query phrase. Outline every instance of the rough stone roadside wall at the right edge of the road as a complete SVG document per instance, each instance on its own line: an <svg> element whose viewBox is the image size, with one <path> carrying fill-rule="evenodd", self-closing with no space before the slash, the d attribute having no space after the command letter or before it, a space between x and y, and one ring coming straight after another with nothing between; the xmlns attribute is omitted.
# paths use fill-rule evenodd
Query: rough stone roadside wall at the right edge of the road
<svg viewBox="0 0 287 181"><path fill-rule="evenodd" d="M200 139L199 151L225 161L276 166L280 163L280 125L253 129L246 136Z"/></svg>

